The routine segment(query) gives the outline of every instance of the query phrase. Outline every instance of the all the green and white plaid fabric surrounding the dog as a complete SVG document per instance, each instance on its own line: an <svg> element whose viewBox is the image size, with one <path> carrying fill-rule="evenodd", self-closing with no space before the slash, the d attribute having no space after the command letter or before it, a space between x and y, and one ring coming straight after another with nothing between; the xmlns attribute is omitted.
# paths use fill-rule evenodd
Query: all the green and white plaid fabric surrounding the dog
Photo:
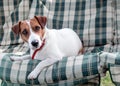
<svg viewBox="0 0 120 86"><path fill-rule="evenodd" d="M116 56L97 53L120 51L119 4L119 0L0 0L2 85L86 86L86 83L89 83L96 86L100 84L99 73L102 72L99 68L102 66L108 67L113 81L119 84L119 72L116 72L119 71L119 64L116 64L119 62L119 54ZM21 38L16 38L11 32L11 27L18 21L30 19L34 15L46 16L47 27L50 29L67 27L76 31L83 41L85 53L88 54L63 58L62 61L45 68L36 80L27 80L27 75L40 61L10 61L11 55L29 52Z"/></svg>

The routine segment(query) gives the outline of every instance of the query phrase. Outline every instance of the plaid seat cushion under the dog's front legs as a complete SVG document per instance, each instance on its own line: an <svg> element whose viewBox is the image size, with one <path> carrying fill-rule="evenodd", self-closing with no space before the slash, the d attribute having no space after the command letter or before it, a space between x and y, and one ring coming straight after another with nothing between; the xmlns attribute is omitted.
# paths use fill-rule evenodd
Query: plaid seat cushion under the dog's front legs
<svg viewBox="0 0 120 86"><path fill-rule="evenodd" d="M43 69L37 79L28 80L27 76L40 62L38 60L26 60L12 62L7 54L0 60L0 78L4 81L21 84L39 84L50 86L73 86L91 82L98 76L97 54L86 54L76 57L63 58L62 61ZM69 83L68 83L69 82ZM95 86L99 82L91 82Z"/></svg>

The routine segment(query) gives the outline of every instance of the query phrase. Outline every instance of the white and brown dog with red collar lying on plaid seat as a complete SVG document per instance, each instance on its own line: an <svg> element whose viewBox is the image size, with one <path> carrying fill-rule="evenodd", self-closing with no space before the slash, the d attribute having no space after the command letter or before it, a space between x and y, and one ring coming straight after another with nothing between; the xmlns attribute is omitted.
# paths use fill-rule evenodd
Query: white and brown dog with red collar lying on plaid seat
<svg viewBox="0 0 120 86"><path fill-rule="evenodd" d="M10 57L13 61L38 59L41 62L28 75L28 79L35 79L43 68L60 61L63 57L76 56L82 53L83 46L78 35L70 28L60 30L46 27L47 17L34 16L30 20L19 21L12 26L14 34L20 35L28 43L30 55ZM39 52L39 56L35 56Z"/></svg>

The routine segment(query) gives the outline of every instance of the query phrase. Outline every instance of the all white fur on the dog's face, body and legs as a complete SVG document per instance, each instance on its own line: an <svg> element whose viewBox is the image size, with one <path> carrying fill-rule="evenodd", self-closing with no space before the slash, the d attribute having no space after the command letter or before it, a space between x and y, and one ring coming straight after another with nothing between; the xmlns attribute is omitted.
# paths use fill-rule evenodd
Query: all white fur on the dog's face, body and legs
<svg viewBox="0 0 120 86"><path fill-rule="evenodd" d="M28 22L29 24L29 22ZM30 26L30 24L29 24ZM31 27L30 27L31 28ZM41 46L42 40L38 35L30 30L31 34L28 40L31 55L34 52L32 49L31 41L34 39L39 40L39 46ZM42 60L36 68L28 75L28 79L36 78L41 70L47 66L54 64L55 62L61 60L63 57L76 56L78 52L82 49L82 43L77 36L77 34L68 28L61 30L47 29L45 27L45 46L39 52L40 56L35 57L35 59ZM25 60L31 58L30 56L23 57L11 57L12 60Z"/></svg>

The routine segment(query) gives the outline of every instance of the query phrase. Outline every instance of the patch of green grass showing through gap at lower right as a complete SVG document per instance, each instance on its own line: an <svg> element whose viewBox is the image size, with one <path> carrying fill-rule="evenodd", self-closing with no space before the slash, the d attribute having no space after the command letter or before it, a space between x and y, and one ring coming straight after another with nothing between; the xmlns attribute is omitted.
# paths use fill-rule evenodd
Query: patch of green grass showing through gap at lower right
<svg viewBox="0 0 120 86"><path fill-rule="evenodd" d="M107 72L105 77L101 78L101 86L115 86L111 81L109 72Z"/></svg>

